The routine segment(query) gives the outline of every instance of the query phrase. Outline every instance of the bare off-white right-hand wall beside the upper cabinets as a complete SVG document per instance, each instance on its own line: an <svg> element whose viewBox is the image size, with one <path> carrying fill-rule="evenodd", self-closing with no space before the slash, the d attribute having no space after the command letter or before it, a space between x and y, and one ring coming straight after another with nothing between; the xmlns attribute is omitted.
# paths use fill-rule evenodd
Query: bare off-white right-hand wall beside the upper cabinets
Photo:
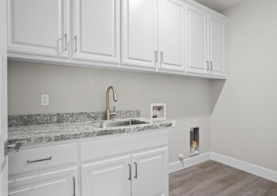
<svg viewBox="0 0 277 196"><path fill-rule="evenodd" d="M277 171L277 1L246 0L227 19L227 80L212 81L211 151Z"/></svg>

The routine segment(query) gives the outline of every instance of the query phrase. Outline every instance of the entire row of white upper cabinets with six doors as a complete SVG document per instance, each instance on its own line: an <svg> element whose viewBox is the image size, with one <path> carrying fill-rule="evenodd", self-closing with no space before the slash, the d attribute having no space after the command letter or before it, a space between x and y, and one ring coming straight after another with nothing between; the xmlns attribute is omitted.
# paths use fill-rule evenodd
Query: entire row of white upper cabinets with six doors
<svg viewBox="0 0 277 196"><path fill-rule="evenodd" d="M226 78L227 17L191 0L7 2L8 60Z"/></svg>

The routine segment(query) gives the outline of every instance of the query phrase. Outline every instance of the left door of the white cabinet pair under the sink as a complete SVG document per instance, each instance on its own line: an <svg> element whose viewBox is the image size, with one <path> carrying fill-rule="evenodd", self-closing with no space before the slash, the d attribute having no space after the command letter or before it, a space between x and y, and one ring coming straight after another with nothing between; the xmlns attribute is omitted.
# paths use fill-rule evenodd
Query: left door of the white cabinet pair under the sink
<svg viewBox="0 0 277 196"><path fill-rule="evenodd" d="M131 156L81 165L84 196L131 196Z"/></svg>

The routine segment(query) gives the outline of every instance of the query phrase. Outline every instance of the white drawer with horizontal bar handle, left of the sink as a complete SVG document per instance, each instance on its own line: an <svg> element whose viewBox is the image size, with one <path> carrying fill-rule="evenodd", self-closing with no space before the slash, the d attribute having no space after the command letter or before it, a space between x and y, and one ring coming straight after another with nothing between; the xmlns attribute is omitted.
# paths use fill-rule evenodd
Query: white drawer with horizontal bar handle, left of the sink
<svg viewBox="0 0 277 196"><path fill-rule="evenodd" d="M8 158L9 174L75 163L78 161L77 143L22 149L10 152Z"/></svg>

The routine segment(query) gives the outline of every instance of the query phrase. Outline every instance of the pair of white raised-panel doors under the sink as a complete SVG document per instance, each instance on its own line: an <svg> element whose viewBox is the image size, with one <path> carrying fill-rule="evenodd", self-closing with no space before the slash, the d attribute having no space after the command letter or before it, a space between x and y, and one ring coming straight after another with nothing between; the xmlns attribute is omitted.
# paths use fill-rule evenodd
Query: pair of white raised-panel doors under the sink
<svg viewBox="0 0 277 196"><path fill-rule="evenodd" d="M167 150L164 147L81 165L82 195L168 195Z"/></svg>

